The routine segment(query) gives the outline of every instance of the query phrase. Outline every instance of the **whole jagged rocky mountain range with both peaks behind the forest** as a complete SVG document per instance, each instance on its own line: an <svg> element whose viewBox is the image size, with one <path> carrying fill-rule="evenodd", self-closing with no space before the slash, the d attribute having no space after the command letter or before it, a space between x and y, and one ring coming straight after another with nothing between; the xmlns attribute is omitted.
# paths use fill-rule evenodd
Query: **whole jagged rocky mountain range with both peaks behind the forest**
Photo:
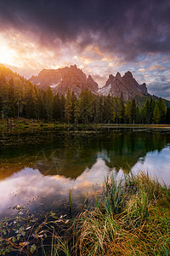
<svg viewBox="0 0 170 256"><path fill-rule="evenodd" d="M41 88L50 86L54 94L66 95L69 87L76 95L88 88L94 94L103 96L122 95L126 100L134 96L150 96L146 84L139 84L129 71L123 76L120 73L116 73L116 76L111 74L102 88L99 88L91 75L87 77L76 65L59 69L42 69L37 76L32 76L29 80L32 84Z"/></svg>

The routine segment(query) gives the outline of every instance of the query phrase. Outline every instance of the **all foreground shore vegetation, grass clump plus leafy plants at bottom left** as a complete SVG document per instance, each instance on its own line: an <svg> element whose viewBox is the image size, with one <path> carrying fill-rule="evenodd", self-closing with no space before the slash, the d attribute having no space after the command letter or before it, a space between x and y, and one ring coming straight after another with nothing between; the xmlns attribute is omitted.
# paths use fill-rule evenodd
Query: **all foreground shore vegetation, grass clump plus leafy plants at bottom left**
<svg viewBox="0 0 170 256"><path fill-rule="evenodd" d="M25 255L170 253L170 189L144 172L134 176L130 173L121 180L107 177L95 207L77 218L59 218L50 212L49 218L36 224L31 215L27 216L21 225L18 215L16 238L10 235L11 230L4 238L8 225L7 220L1 222L2 254L13 250Z"/></svg>

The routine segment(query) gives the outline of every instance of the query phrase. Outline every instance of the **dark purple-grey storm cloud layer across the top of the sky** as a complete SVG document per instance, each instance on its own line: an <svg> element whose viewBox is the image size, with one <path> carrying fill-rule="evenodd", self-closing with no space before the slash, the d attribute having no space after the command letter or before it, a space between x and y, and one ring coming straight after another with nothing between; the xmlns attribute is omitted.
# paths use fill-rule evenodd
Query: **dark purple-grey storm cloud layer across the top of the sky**
<svg viewBox="0 0 170 256"><path fill-rule="evenodd" d="M133 60L169 53L169 13L169 0L0 0L0 29L31 31L51 47L58 39L80 49L99 44Z"/></svg>

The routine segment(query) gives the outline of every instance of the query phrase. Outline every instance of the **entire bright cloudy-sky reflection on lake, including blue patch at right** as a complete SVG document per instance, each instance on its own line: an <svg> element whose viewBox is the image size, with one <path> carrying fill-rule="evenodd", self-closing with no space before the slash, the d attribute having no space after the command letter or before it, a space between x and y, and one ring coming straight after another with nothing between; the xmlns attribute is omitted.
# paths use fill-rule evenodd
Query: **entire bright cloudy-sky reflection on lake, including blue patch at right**
<svg viewBox="0 0 170 256"><path fill-rule="evenodd" d="M142 160L133 166L133 172L148 171L151 175L159 177L170 184L170 148L167 146L161 151L149 152ZM115 156L116 159L116 156ZM32 211L48 211L53 205L62 207L65 199L68 201L69 189L73 189L73 201L79 206L83 199L92 192L101 191L101 184L115 168L107 166L110 159L99 154L91 168L86 167L77 178L61 175L43 176L37 169L24 168L0 182L0 214L7 211L8 207L28 205ZM114 161L113 161L114 166ZM75 167L76 168L76 167ZM122 176L120 167L118 177Z"/></svg>

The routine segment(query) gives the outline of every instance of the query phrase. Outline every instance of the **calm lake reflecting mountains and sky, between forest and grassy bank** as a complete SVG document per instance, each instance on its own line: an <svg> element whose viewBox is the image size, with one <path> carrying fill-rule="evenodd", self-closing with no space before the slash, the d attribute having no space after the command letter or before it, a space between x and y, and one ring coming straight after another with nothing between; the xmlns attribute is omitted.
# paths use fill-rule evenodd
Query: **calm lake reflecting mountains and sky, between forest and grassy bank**
<svg viewBox="0 0 170 256"><path fill-rule="evenodd" d="M8 207L25 206L42 216L81 211L86 199L102 191L114 172L147 171L170 184L170 130L100 128L89 131L50 129L1 131L0 216Z"/></svg>

